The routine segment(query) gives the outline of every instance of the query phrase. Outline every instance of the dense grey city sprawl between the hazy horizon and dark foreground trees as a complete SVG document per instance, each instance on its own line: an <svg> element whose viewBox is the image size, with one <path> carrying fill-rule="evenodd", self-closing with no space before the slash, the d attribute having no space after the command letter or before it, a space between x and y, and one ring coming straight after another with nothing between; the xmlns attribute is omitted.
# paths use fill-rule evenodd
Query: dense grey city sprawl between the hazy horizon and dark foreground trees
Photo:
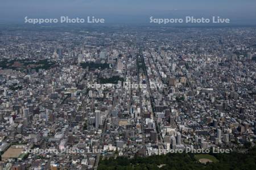
<svg viewBox="0 0 256 170"><path fill-rule="evenodd" d="M1 31L2 166L254 145L255 30Z"/></svg>

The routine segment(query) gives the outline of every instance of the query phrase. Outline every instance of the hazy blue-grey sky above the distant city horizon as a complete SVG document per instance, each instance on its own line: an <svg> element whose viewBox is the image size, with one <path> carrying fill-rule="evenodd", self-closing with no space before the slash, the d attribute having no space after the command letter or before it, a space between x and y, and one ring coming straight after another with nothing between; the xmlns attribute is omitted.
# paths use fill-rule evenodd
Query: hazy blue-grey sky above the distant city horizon
<svg viewBox="0 0 256 170"><path fill-rule="evenodd" d="M106 22L148 22L148 16L231 18L256 23L255 0L0 0L0 20L96 16Z"/></svg>

